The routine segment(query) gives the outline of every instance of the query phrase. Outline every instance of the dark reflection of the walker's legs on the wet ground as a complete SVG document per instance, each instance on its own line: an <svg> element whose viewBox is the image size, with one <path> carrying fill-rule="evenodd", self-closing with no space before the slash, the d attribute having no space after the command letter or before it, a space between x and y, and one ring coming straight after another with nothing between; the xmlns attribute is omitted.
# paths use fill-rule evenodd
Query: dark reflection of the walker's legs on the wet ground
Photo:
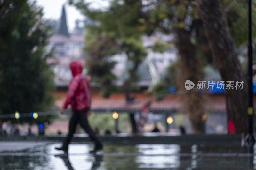
<svg viewBox="0 0 256 170"><path fill-rule="evenodd" d="M103 160L103 155L97 155L97 154L92 154L92 155L94 156L95 160L92 164L91 170L95 170L100 167L100 164ZM65 156L56 155L56 156L60 157L63 160L63 162L64 162L65 166L68 168L68 170L74 170L74 168L72 167L72 164L70 163L70 161L68 159L68 155L65 155Z"/></svg>

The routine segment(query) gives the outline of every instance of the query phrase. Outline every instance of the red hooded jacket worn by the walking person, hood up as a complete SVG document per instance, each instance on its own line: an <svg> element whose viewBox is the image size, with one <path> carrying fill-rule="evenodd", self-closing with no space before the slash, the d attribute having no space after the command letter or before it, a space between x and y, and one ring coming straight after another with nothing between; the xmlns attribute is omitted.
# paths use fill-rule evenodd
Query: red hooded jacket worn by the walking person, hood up
<svg viewBox="0 0 256 170"><path fill-rule="evenodd" d="M73 78L68 87L67 99L63 108L66 109L69 104L73 110L90 109L91 105L91 92L90 81L82 75L82 63L75 61L70 63Z"/></svg>

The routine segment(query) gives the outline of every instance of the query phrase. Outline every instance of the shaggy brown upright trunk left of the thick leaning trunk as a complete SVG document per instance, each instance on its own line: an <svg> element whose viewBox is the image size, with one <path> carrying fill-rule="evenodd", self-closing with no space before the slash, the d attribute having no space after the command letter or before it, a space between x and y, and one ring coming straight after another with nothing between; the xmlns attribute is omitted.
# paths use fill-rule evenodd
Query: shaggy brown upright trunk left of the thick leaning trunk
<svg viewBox="0 0 256 170"><path fill-rule="evenodd" d="M190 80L197 84L200 79L200 65L196 57L196 47L190 42L190 31L177 29L178 53L180 57L181 72L178 76L180 87L185 90L185 81ZM185 109L189 115L195 133L204 133L204 106L202 103L203 96L200 91L190 90L185 94Z"/></svg>

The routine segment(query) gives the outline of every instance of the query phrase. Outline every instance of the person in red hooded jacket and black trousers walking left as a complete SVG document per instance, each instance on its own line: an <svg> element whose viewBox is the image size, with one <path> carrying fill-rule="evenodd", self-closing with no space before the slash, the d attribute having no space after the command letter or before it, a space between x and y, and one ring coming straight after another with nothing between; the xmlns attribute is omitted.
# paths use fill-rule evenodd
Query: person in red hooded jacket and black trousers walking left
<svg viewBox="0 0 256 170"><path fill-rule="evenodd" d="M80 123L95 144L94 149L90 151L90 153L95 153L96 151L102 150L102 143L99 137L93 132L87 120L87 115L91 115L90 80L82 74L82 63L78 61L72 62L70 63L70 69L73 78L70 81L67 98L60 113L64 114L64 109L71 104L73 114L69 122L68 136L64 139L63 145L60 148L55 149L68 153L68 144L75 133L77 123Z"/></svg>

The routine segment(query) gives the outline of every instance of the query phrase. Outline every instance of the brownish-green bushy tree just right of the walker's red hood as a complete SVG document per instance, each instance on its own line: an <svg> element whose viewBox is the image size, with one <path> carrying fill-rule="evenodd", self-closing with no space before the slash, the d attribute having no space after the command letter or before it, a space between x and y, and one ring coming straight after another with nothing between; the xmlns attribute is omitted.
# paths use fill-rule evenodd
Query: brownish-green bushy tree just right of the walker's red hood
<svg viewBox="0 0 256 170"><path fill-rule="evenodd" d="M109 97L116 89L116 86L112 84L112 81L116 80L116 76L111 72L115 62L109 61L109 56L116 53L117 44L110 35L93 31L97 30L97 28L94 28L87 28L86 67L88 74L92 76L92 80L100 84L101 95Z"/></svg>

